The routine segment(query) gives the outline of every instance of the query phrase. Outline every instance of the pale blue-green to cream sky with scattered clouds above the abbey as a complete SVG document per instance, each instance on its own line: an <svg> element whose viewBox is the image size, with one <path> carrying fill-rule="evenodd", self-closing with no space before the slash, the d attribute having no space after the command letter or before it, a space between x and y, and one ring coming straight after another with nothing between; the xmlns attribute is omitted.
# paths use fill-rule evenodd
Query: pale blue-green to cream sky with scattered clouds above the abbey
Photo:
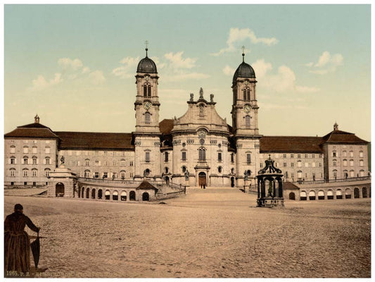
<svg viewBox="0 0 375 282"><path fill-rule="evenodd" d="M262 135L371 140L369 5L6 5L4 131L135 130L136 66L158 68L160 121L203 87L231 124L231 80L255 70Z"/></svg>

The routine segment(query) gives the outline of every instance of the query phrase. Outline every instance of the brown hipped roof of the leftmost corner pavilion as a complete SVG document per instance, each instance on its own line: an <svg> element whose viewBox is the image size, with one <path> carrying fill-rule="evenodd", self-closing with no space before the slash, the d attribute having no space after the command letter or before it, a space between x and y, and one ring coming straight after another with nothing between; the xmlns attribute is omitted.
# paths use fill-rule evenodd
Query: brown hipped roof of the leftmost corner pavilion
<svg viewBox="0 0 375 282"><path fill-rule="evenodd" d="M53 131L41 123L30 123L15 128L4 137L37 137L37 138L58 138Z"/></svg>

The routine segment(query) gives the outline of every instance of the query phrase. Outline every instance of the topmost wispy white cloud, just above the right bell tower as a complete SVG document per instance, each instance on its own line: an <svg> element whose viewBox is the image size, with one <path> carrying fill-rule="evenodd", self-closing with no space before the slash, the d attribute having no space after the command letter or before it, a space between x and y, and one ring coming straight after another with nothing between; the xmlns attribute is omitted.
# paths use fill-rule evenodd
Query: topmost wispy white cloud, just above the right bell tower
<svg viewBox="0 0 375 282"><path fill-rule="evenodd" d="M227 47L211 55L220 56L221 54L225 52L236 51L236 49L239 49L239 46L235 46L236 43L242 42L246 39L250 39L250 42L253 44L262 43L267 46L271 46L279 42L279 40L277 40L275 37L271 37L271 38L257 37L255 35L255 32L253 32L253 30L250 30L250 28L239 29L238 27L236 27L236 28L231 28L229 30L229 37L227 39Z"/></svg>

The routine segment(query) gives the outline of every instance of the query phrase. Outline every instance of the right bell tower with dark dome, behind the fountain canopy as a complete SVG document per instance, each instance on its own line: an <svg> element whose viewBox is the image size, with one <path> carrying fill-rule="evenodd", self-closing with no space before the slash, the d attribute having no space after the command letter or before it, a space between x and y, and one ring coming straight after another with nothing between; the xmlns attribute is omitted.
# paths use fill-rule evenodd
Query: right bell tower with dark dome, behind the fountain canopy
<svg viewBox="0 0 375 282"><path fill-rule="evenodd" d="M232 81L233 104L232 128L236 140L236 185L248 188L256 184L259 167L260 137L258 129L258 104L255 71L245 63L245 47L242 63L236 69Z"/></svg>

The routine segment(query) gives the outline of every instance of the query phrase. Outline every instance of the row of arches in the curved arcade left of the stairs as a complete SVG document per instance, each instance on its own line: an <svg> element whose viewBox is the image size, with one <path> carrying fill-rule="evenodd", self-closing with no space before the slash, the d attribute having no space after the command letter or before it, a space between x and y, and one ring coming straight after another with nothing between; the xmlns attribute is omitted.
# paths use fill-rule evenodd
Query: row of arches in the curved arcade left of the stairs
<svg viewBox="0 0 375 282"><path fill-rule="evenodd" d="M134 190L103 190L101 188L84 188L80 187L77 190L78 197L84 199L98 199L98 200L113 200L113 201L136 201L136 192ZM129 198L128 198L129 195ZM148 192L142 193L142 201L149 201L150 195Z"/></svg>

